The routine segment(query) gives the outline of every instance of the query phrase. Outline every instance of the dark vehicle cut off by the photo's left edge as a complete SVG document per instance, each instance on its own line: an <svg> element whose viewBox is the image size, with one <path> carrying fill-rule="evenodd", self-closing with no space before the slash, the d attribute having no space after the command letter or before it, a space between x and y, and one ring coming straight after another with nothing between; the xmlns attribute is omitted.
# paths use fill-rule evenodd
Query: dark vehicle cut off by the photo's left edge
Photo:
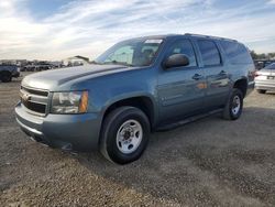
<svg viewBox="0 0 275 207"><path fill-rule="evenodd" d="M12 77L19 77L20 69L15 65L0 65L0 80L8 83L12 80Z"/></svg>

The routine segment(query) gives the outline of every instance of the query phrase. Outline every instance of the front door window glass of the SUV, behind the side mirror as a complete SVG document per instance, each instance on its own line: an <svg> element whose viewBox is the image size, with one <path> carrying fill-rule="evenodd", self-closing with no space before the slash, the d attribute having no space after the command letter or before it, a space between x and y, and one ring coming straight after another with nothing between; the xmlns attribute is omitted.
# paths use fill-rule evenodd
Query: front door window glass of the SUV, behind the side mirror
<svg viewBox="0 0 275 207"><path fill-rule="evenodd" d="M189 65L187 67L197 66L196 56L193 50L193 45L188 40L176 41L169 48L168 56L174 54L184 54L189 58Z"/></svg>

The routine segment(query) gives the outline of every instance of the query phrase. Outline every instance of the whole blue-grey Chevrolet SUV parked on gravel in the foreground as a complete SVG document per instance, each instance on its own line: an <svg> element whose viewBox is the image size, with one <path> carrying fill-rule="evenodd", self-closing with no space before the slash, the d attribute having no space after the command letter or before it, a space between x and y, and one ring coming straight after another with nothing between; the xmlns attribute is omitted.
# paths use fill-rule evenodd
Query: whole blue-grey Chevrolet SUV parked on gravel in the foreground
<svg viewBox="0 0 275 207"><path fill-rule="evenodd" d="M240 118L254 88L248 48L206 35L161 35L116 44L91 65L22 80L16 121L33 140L110 161L139 159L151 131L221 112Z"/></svg>

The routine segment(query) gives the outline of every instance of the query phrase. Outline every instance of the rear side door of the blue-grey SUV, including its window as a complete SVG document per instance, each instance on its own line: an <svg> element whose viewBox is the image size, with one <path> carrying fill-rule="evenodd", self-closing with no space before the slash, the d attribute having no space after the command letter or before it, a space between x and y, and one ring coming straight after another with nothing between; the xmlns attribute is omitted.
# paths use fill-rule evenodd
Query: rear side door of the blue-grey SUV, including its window
<svg viewBox="0 0 275 207"><path fill-rule="evenodd" d="M197 40L200 54L200 67L206 76L206 108L211 110L222 107L230 91L229 72L223 64L221 53L213 40Z"/></svg>

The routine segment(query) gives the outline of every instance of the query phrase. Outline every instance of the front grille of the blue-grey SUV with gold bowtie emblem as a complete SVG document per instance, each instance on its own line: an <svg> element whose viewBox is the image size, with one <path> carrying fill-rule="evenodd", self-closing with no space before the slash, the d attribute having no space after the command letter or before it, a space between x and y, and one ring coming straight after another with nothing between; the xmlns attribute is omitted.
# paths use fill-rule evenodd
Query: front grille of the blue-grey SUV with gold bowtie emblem
<svg viewBox="0 0 275 207"><path fill-rule="evenodd" d="M47 102L48 102L48 91L42 89L34 89L21 86L20 97L22 105L30 111L38 115L45 115Z"/></svg>

